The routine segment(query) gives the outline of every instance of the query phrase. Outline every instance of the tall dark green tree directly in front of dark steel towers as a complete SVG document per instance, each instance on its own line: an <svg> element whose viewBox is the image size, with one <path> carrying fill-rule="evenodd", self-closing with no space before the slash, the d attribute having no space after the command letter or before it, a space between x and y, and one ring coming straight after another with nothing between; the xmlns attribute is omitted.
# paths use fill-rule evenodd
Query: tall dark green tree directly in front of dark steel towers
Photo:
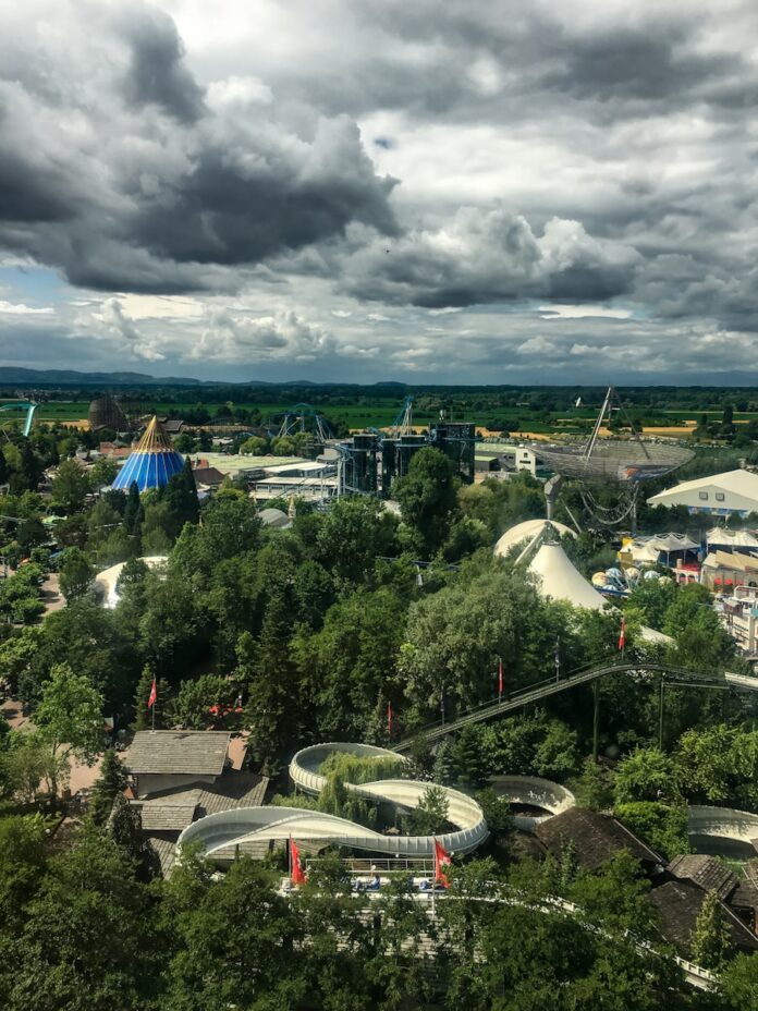
<svg viewBox="0 0 758 1011"><path fill-rule="evenodd" d="M408 473L393 485L403 520L425 558L431 558L448 539L459 513L459 485L452 461L432 447L415 453Z"/></svg>

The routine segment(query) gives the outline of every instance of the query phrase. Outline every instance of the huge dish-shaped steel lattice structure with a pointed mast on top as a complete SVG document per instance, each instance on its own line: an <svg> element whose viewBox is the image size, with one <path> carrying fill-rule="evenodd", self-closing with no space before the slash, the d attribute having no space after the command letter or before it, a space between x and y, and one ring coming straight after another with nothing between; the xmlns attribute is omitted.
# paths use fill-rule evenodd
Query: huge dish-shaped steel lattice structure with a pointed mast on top
<svg viewBox="0 0 758 1011"><path fill-rule="evenodd" d="M631 437L601 440L600 430L603 424L610 424L614 412L627 423ZM537 442L529 448L555 473L545 487L548 519L552 519L564 483L572 482L578 484L582 502L599 526L616 526L631 515L634 527L643 484L663 477L694 456L692 450L682 446L645 442L612 386L608 388L592 433L585 443L546 446ZM600 488L615 490L616 502L613 505L599 501Z"/></svg>

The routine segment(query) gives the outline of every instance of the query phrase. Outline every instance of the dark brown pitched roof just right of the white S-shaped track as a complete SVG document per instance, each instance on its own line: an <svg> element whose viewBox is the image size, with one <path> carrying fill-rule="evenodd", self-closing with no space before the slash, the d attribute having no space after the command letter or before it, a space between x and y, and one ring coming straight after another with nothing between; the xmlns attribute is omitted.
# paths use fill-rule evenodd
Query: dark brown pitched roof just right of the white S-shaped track
<svg viewBox="0 0 758 1011"><path fill-rule="evenodd" d="M572 807L536 828L537 838L553 856L560 856L564 845L573 842L576 860L582 867L596 870L622 850L646 863L663 865L663 858L610 815Z"/></svg>

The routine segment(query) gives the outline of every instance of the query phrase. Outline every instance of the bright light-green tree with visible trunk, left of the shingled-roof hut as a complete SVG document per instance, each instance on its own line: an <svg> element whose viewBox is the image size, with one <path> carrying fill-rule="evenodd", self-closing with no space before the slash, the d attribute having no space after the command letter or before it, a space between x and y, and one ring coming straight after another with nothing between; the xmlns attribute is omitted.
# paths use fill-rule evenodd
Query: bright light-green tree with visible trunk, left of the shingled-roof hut
<svg viewBox="0 0 758 1011"><path fill-rule="evenodd" d="M91 765L102 748L102 696L89 679L58 663L42 686L35 722L53 759L68 764L71 756ZM58 772L51 782L57 794Z"/></svg>

